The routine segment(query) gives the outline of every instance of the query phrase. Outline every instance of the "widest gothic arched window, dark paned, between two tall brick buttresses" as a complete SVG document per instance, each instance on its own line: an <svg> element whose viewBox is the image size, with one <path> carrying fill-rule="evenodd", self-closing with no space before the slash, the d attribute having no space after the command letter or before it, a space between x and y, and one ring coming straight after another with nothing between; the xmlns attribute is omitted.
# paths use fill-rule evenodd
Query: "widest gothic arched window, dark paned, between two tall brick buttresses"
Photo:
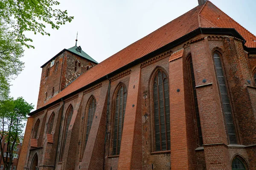
<svg viewBox="0 0 256 170"><path fill-rule="evenodd" d="M163 71L153 79L155 151L171 149L169 83Z"/></svg>

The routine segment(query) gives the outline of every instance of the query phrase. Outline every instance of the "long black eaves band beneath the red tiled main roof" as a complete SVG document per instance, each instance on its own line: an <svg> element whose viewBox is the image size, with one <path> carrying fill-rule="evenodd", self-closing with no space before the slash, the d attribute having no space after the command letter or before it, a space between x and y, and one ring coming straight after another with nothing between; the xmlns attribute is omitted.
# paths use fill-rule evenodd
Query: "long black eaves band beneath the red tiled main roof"
<svg viewBox="0 0 256 170"><path fill-rule="evenodd" d="M151 57L154 57L157 54L160 54L160 53L162 53L162 52L164 52L164 51L166 51L166 50L168 50L170 48L173 48L173 47L175 47L175 46L177 46L177 45L179 45L179 44L181 44L183 42L186 42L187 40L191 39L192 37L195 37L198 34L225 34L225 35L230 35L232 37L236 37L236 38L238 38L238 39L243 41L244 49L247 52L249 52L250 54L256 54L256 48L248 48L248 47L246 47L244 45L246 40L244 40L244 38L236 31L235 28L197 28L194 31L191 31L188 34L178 38L177 40L174 40L174 41L170 42L169 44L166 44L163 47L158 48L157 50L152 51L151 53L146 54L145 56L143 56L143 57L141 57L139 59L135 59L133 62L130 62L127 65L124 65L123 67L121 67L121 68L111 72L110 74L107 74L106 76L101 77L101 78L95 80L94 82L91 82L90 84L85 85L84 87L79 88L76 91L73 91L72 93L70 93L70 94L68 94L66 96L63 96L62 98L68 98L70 96L73 96L74 94L77 94L77 93L79 93L81 91L84 91L87 88L89 88L89 87L91 87L93 85L96 85L96 84L98 84L99 82L102 82L105 79L108 79L108 77L112 77L113 75L118 74L119 72L125 71L128 68L131 68L133 65L137 65L137 64L139 64L139 63L141 63L141 62L143 62L143 61L145 61L145 60L147 60L147 59L149 59ZM32 116L33 114L35 114L35 113L37 113L39 111L42 111L42 110L44 110L45 108L48 108L51 105L55 105L56 103L58 103L60 101L61 101L61 99L57 99L54 102L49 103L48 105L45 105L42 108L39 108L38 110L35 110L35 111L29 113L29 116Z"/></svg>

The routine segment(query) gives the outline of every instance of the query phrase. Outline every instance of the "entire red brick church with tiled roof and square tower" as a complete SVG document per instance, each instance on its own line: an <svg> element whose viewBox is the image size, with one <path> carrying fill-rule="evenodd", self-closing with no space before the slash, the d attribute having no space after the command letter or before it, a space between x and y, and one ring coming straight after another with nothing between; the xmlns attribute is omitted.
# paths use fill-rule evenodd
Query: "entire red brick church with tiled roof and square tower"
<svg viewBox="0 0 256 170"><path fill-rule="evenodd" d="M19 170L256 170L256 36L210 1L97 63L42 65Z"/></svg>

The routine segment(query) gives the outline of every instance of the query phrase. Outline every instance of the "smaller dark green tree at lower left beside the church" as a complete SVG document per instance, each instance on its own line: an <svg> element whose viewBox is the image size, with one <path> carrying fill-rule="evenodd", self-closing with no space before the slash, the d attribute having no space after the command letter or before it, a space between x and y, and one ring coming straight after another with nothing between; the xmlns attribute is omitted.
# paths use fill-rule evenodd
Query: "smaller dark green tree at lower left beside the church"
<svg viewBox="0 0 256 170"><path fill-rule="evenodd" d="M27 103L22 97L16 100L9 98L0 101L0 151L6 169L12 165L13 152L25 126L24 121L33 108L34 106ZM7 144L6 155L9 153L9 157L3 156L2 142Z"/></svg>

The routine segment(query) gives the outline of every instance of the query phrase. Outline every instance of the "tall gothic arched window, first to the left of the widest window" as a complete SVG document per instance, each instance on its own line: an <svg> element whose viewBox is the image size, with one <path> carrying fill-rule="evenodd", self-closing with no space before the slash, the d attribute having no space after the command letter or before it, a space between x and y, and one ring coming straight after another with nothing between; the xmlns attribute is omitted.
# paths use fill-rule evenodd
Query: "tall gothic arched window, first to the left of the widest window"
<svg viewBox="0 0 256 170"><path fill-rule="evenodd" d="M122 139L122 129L125 119L127 91L123 84L119 85L117 93L113 99L113 155L119 155Z"/></svg>

